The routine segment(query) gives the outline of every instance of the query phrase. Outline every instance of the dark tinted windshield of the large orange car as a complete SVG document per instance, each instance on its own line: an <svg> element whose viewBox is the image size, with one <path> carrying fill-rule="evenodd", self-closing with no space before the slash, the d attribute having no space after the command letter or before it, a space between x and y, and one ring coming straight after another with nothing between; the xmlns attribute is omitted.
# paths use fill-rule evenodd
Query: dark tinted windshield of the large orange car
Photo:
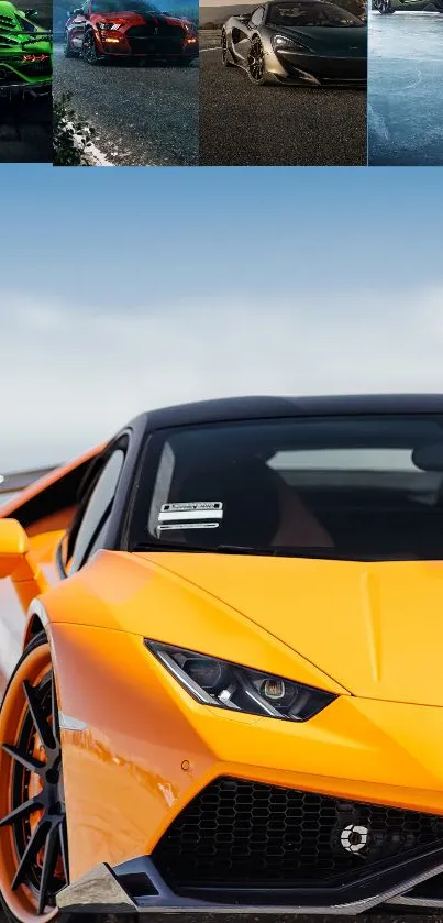
<svg viewBox="0 0 443 923"><path fill-rule="evenodd" d="M158 432L130 543L162 542L443 559L443 417L298 417Z"/></svg>

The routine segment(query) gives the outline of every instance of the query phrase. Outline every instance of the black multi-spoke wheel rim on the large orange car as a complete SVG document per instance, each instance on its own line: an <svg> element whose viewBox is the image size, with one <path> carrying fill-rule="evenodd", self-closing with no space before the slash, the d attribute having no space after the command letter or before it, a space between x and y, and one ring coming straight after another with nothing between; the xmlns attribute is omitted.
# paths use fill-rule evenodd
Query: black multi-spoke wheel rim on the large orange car
<svg viewBox="0 0 443 923"><path fill-rule="evenodd" d="M62 747L53 673L36 686L22 684L26 713L16 744L3 744L13 759L11 810L0 826L11 826L18 866L12 890L26 886L37 914L55 906L55 895L69 880ZM44 759L34 755L35 741ZM32 794L40 780L41 791ZM35 815L37 820L35 820Z"/></svg>

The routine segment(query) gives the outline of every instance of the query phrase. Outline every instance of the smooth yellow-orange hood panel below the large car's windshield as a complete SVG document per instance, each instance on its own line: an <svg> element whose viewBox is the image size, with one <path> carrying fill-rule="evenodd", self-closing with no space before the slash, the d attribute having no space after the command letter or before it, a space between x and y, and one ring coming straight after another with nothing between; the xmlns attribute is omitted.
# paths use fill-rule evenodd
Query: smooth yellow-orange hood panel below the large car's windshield
<svg viewBox="0 0 443 923"><path fill-rule="evenodd" d="M242 613L354 695L443 707L443 562L141 557Z"/></svg>

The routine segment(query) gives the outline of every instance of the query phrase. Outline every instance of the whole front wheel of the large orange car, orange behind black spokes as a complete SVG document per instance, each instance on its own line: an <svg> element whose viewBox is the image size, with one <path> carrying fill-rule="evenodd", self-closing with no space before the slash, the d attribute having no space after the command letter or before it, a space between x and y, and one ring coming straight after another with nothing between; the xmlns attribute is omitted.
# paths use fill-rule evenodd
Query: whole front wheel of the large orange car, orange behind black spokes
<svg viewBox="0 0 443 923"><path fill-rule="evenodd" d="M41 633L0 707L0 910L10 923L55 920L55 893L69 880L67 850L57 694Z"/></svg>

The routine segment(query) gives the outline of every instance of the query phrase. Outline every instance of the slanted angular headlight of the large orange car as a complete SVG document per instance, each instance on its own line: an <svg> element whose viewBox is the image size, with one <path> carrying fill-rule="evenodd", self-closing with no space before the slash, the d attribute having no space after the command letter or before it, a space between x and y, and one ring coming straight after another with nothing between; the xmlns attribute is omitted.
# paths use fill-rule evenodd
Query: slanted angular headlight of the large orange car
<svg viewBox="0 0 443 923"><path fill-rule="evenodd" d="M251 715L308 721L334 699L331 692L145 638L146 647L202 705Z"/></svg>

